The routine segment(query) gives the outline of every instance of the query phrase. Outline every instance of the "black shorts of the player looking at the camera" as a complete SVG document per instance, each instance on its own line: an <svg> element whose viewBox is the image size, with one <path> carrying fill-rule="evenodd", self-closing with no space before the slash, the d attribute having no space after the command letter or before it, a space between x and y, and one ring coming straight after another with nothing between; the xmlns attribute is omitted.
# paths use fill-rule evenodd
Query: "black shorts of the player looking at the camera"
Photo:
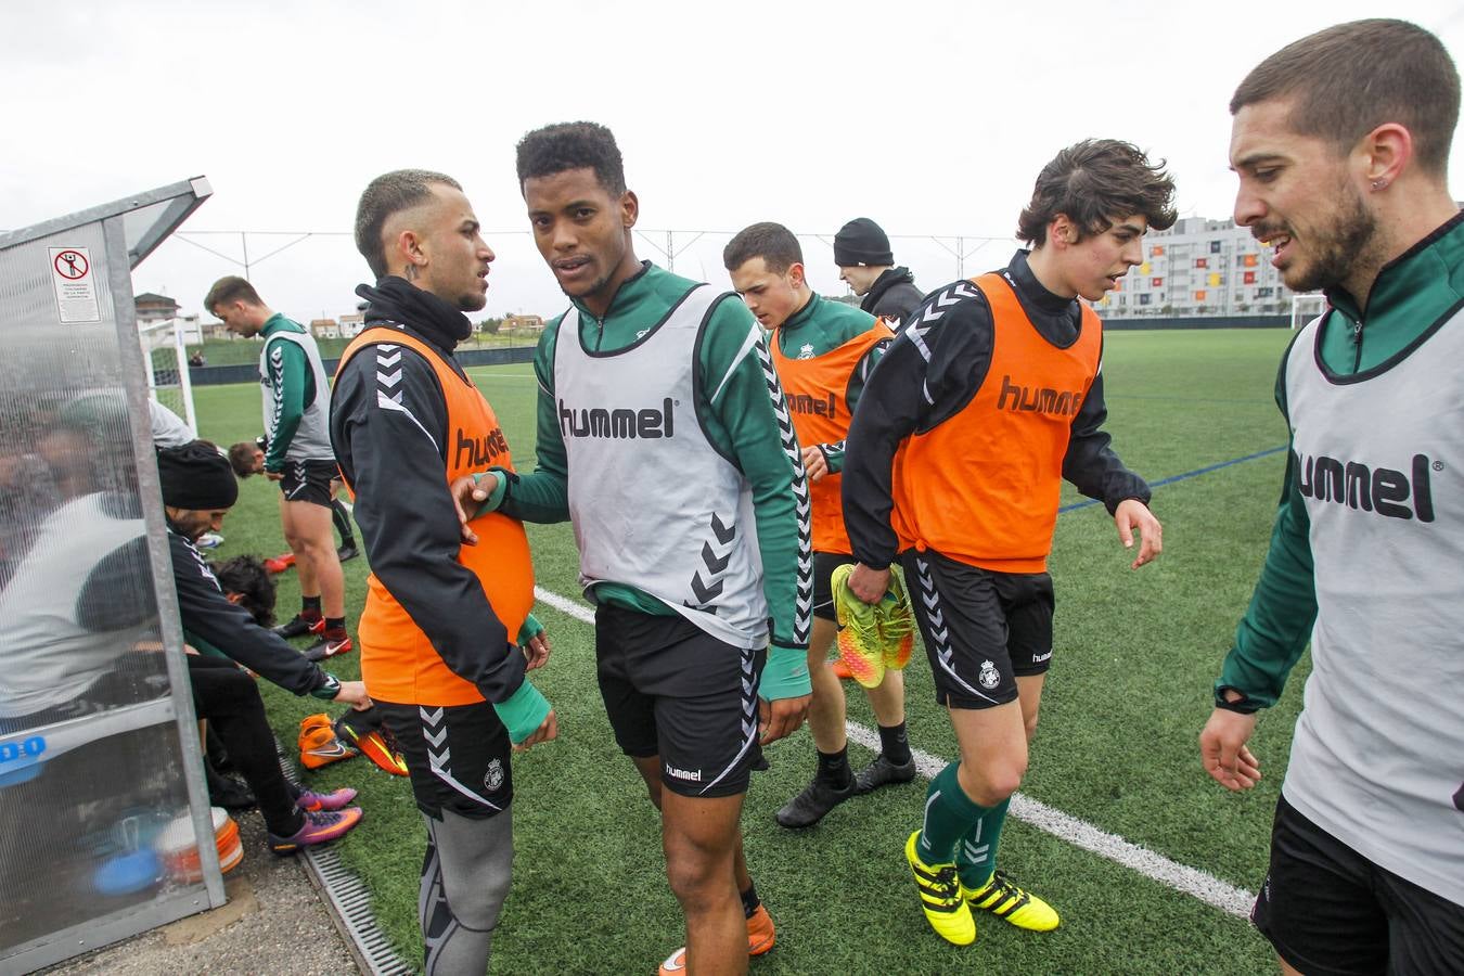
<svg viewBox="0 0 1464 976"><path fill-rule="evenodd" d="M625 755L660 757L660 780L682 796L736 796L763 758L757 685L766 650L723 644L682 616L613 603L594 612L605 711Z"/></svg>

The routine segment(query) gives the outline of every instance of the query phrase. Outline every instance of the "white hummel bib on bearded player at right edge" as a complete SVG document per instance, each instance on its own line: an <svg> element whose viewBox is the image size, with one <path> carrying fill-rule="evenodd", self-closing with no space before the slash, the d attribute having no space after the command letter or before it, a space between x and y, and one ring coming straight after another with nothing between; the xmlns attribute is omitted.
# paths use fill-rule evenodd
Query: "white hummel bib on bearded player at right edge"
<svg viewBox="0 0 1464 976"><path fill-rule="evenodd" d="M1284 373L1318 615L1282 792L1369 860L1464 904L1464 312L1348 376L1322 364L1325 320Z"/></svg>

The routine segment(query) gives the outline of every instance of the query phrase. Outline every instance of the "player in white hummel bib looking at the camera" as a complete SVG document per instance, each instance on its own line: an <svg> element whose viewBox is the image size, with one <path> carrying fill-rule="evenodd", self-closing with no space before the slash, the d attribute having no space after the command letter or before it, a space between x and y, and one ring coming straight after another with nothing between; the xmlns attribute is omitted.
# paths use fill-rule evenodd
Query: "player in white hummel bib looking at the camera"
<svg viewBox="0 0 1464 976"><path fill-rule="evenodd" d="M747 307L635 258L640 202L609 129L530 132L517 165L572 307L534 356L537 468L493 473L474 498L574 521L600 694L662 812L687 919L663 972L741 973L776 938L742 856L742 797L760 746L795 732L810 697L798 442Z"/></svg>

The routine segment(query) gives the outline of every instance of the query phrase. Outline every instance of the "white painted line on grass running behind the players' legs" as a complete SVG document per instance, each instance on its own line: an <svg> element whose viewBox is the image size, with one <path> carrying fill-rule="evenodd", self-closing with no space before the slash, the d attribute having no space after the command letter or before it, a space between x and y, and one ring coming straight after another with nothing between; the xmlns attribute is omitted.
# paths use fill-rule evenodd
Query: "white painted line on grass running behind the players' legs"
<svg viewBox="0 0 1464 976"><path fill-rule="evenodd" d="M577 620L584 620L591 625L594 623L594 612L578 600L561 597L558 593L550 593L543 587L534 587L534 596L553 609L568 613ZM851 739L867 749L874 752L880 751L880 736L873 729L867 729L856 721L845 723L845 727ZM911 749L911 752L915 757L915 768L919 770L919 774L927 780L947 765L946 759L922 752L921 749ZM1189 868L1170 860L1164 855L1157 855L1148 847L1140 847L1139 844L1130 843L1117 834L1098 830L1086 821L1069 817L1067 814L1054 809L1041 800L1034 800L1031 796L1023 793L1012 795L1012 808L1009 812L1019 821L1037 827L1041 831L1047 831L1058 840L1066 840L1075 847L1082 847L1083 850L1092 852L1099 857L1107 857L1114 863L1138 871L1146 878L1199 898L1205 904L1214 906L1221 912L1227 912L1239 917L1247 917L1250 915L1250 906L1256 900L1256 896L1244 888L1227 884L1215 875L1200 871L1199 868Z"/></svg>

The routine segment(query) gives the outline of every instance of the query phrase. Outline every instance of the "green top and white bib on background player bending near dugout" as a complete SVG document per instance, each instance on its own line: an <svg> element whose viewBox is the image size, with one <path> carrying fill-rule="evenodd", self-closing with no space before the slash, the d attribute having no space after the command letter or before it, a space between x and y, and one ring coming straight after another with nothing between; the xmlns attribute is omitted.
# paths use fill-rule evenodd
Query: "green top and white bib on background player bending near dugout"
<svg viewBox="0 0 1464 976"><path fill-rule="evenodd" d="M259 394L269 438L265 470L285 461L334 461L331 382L315 339L297 322L274 315L259 332Z"/></svg>

